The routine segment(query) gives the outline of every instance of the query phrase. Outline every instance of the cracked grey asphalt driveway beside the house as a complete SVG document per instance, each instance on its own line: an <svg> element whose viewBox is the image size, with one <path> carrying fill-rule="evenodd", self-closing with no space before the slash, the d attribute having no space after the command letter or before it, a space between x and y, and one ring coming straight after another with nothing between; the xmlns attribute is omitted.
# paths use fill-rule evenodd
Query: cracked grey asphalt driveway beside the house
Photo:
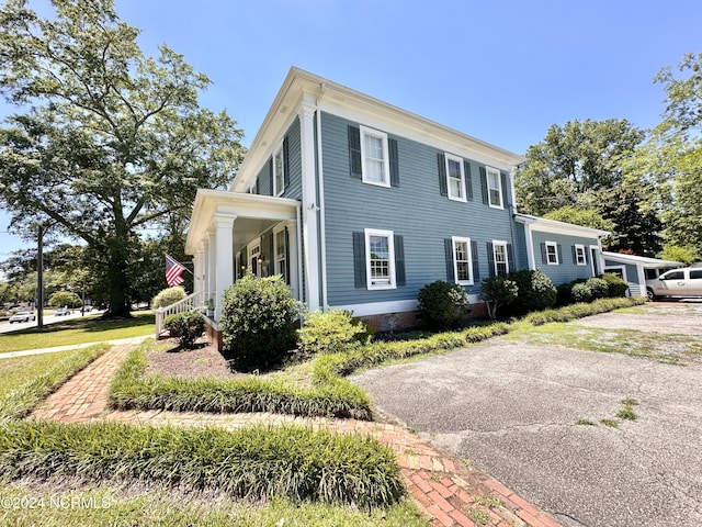
<svg viewBox="0 0 702 527"><path fill-rule="evenodd" d="M657 332L661 347L666 332L702 338L700 304L638 311L577 324ZM679 366L500 337L352 380L378 411L564 525L702 525L700 356ZM616 417L623 400L637 403L635 421Z"/></svg>

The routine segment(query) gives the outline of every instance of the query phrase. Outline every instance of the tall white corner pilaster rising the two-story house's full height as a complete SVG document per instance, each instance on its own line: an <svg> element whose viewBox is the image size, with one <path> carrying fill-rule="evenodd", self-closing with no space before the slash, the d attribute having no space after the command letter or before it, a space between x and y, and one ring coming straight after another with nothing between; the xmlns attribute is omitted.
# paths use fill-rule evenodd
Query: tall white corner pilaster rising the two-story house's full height
<svg viewBox="0 0 702 527"><path fill-rule="evenodd" d="M303 101L299 111L303 171L303 244L305 299L310 311L319 309L319 203L315 173L315 106Z"/></svg>

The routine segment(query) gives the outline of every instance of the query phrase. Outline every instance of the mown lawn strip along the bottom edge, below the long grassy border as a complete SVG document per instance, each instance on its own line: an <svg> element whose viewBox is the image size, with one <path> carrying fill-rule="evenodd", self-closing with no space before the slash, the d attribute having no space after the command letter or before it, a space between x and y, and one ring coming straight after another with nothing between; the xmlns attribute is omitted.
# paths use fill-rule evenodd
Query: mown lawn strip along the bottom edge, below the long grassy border
<svg viewBox="0 0 702 527"><path fill-rule="evenodd" d="M403 500L383 509L359 511L339 505L274 498L260 505L236 503L227 498L183 497L163 489L135 491L106 484L83 491L37 492L26 485L0 485L0 494L10 500L33 497L45 504L49 500L93 500L98 507L0 508L0 525L41 525L43 527L429 527L414 503ZM59 502L60 503L60 502Z"/></svg>

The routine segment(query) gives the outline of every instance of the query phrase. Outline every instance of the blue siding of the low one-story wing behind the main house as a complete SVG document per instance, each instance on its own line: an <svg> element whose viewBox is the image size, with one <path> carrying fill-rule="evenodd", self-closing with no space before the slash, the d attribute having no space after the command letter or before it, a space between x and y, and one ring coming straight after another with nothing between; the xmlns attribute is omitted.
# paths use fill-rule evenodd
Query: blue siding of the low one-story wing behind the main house
<svg viewBox="0 0 702 527"><path fill-rule="evenodd" d="M536 269L544 272L554 285L569 282L577 278L590 278L592 276L590 245L597 245L597 238L587 238L581 236L568 236L564 234L542 233L540 231L532 232L532 239L534 243L534 261ZM561 259L557 266L547 265L542 258L542 244L546 242L555 242L561 246ZM574 261L573 247L574 245L584 245L585 254L587 258L587 265L578 266Z"/></svg>

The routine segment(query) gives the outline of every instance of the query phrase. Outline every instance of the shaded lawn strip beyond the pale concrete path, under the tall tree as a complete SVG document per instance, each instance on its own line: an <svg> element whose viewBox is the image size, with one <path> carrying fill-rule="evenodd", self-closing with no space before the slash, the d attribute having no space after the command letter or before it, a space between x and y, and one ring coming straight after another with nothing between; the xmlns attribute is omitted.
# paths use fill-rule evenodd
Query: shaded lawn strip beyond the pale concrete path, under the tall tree
<svg viewBox="0 0 702 527"><path fill-rule="evenodd" d="M44 326L0 335L0 354L25 349L71 346L118 338L154 335L152 313L136 313L132 318L102 319L100 315L71 318Z"/></svg>

